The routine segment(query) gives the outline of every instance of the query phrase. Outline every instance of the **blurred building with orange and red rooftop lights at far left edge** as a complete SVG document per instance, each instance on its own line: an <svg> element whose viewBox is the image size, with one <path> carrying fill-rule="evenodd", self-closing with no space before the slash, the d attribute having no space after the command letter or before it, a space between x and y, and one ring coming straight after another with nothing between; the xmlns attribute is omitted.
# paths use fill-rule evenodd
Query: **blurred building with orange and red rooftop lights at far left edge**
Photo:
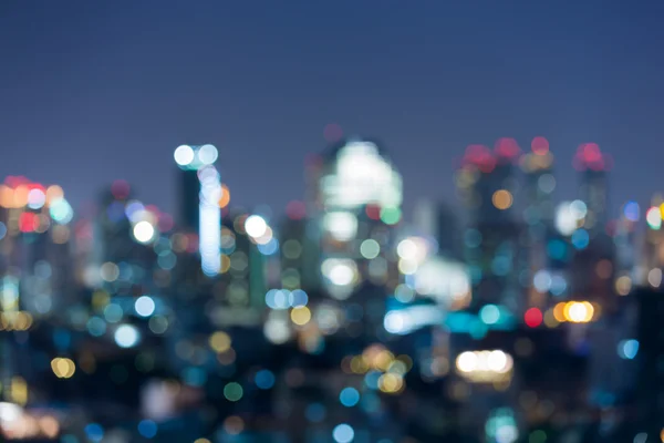
<svg viewBox="0 0 664 443"><path fill-rule="evenodd" d="M9 402L24 405L21 375L37 374L21 332L59 319L74 301L66 259L73 215L60 186L13 176L0 184L0 383Z"/></svg>

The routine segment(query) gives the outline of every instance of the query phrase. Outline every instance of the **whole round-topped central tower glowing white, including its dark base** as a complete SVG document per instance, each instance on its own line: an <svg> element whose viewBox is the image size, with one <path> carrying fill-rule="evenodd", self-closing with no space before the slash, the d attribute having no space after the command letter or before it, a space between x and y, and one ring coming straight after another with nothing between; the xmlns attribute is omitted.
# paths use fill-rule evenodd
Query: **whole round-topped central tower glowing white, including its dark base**
<svg viewBox="0 0 664 443"><path fill-rule="evenodd" d="M320 281L314 293L345 331L375 337L402 279L394 254L401 175L378 142L350 137L310 162L308 177L307 237L318 246Z"/></svg>

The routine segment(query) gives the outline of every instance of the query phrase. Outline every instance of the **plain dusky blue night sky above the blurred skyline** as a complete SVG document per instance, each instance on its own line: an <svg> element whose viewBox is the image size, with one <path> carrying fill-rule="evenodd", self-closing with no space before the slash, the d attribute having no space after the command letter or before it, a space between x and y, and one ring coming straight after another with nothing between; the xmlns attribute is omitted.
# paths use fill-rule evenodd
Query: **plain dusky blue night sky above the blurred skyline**
<svg viewBox="0 0 664 443"><path fill-rule="evenodd" d="M455 203L455 158L549 138L557 198L583 142L614 208L664 190L662 1L0 1L0 176L74 206L125 178L175 208L173 151L212 143L231 205L303 196L323 128L381 138L405 198Z"/></svg>

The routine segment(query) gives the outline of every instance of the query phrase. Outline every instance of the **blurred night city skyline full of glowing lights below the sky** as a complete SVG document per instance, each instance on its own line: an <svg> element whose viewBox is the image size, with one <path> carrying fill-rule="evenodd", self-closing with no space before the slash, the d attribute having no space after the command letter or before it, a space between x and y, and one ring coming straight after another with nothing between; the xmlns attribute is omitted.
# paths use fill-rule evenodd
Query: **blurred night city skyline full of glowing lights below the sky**
<svg viewBox="0 0 664 443"><path fill-rule="evenodd" d="M211 144L173 151L176 214L124 181L75 214L7 177L4 439L660 439L664 199L612 218L611 157L553 153L469 145L461 206L408 216L398 165L359 136L310 156L286 208L235 202Z"/></svg>

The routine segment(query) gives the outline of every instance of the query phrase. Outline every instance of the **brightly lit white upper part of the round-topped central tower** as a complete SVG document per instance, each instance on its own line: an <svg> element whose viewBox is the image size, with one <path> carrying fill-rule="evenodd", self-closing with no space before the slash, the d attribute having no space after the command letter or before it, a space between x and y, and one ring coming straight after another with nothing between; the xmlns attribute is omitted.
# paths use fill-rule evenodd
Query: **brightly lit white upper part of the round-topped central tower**
<svg viewBox="0 0 664 443"><path fill-rule="evenodd" d="M312 186L324 290L343 300L364 281L386 284L402 179L384 150L370 140L339 142L323 154Z"/></svg>

